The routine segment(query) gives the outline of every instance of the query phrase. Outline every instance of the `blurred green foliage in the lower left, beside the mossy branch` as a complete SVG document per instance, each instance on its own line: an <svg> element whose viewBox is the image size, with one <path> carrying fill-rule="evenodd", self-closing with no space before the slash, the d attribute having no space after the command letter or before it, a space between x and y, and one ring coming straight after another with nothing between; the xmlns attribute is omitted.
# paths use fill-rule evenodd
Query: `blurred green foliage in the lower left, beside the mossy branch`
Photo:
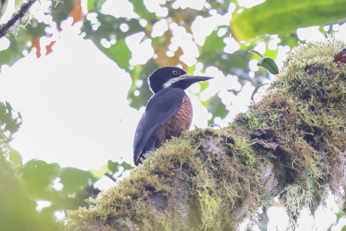
<svg viewBox="0 0 346 231"><path fill-rule="evenodd" d="M84 200L100 193L94 187L99 179L106 174L121 177L133 168L111 160L89 171L37 159L22 164L20 153L9 145L21 125L20 113L13 114L11 105L0 101L0 230L61 230L57 212L89 206Z"/></svg>

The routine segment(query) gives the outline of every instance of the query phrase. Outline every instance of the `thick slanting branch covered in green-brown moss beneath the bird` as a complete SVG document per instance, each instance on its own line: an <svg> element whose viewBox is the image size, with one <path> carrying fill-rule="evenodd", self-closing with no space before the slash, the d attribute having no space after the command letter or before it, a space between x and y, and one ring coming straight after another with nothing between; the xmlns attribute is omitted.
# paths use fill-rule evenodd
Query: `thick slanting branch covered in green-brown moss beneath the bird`
<svg viewBox="0 0 346 231"><path fill-rule="evenodd" d="M237 230L285 193L313 213L327 190L345 201L344 44L301 44L262 100L221 130L165 143L118 185L67 214L71 230Z"/></svg>

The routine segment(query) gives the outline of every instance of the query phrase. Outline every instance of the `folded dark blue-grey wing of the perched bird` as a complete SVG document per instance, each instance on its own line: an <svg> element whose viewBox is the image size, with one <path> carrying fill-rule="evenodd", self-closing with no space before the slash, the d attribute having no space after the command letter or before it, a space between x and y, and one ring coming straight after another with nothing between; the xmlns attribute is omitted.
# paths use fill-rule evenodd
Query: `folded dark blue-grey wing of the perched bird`
<svg viewBox="0 0 346 231"><path fill-rule="evenodd" d="M133 142L134 162L138 159L154 132L166 123L181 107L185 92L181 88L164 88L149 99L145 112L140 118Z"/></svg>

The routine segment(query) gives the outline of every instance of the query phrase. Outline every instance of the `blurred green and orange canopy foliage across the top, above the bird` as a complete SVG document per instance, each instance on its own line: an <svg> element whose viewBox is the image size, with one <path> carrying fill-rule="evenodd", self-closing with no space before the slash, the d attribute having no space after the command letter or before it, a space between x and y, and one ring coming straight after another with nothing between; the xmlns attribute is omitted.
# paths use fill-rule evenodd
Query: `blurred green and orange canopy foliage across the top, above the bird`
<svg viewBox="0 0 346 231"><path fill-rule="evenodd" d="M209 0L201 10L190 7L182 9L175 6L176 1L171 0L165 1L164 4L159 6L169 9L167 16L157 16L156 12L147 9L143 1L129 0L133 5L134 13L137 14L136 18L103 14L102 6L105 2L105 0L88 0L86 5L88 13L83 15L80 0L65 1L64 3L52 1L50 14L52 20L56 22L57 33L62 30L61 23L67 17L73 17L73 24L82 21L81 33L85 36L84 38L90 39L101 52L130 73L132 86L128 92L128 99L130 105L137 109L145 105L152 95L152 92L148 89L146 79L155 69L163 66L180 65L191 74L195 71L195 65L188 67L181 60L181 55L185 54L182 47L179 46L176 50L170 50L170 48L172 49L170 45L175 37L172 25L184 28L186 33L194 35L192 24L198 17L208 19L215 15L215 12L222 17L233 12L240 12L238 14L233 13L229 25L216 26L211 34L206 37L203 45L196 44L199 51L197 62L203 64L204 70L208 66L216 66L225 76L229 74L236 75L241 86L244 86L247 82L257 86L269 77L269 73L266 70L259 69L255 73L256 78L252 78L249 75L251 69L248 61L255 59L255 56L247 51L252 50L258 43L265 42L266 52L264 55L275 59L277 50L268 48L268 43L273 38L265 36L265 34L279 34L281 41L277 45L288 45L292 48L298 42L295 34L296 28L328 25L345 19L343 14L345 2L337 0L267 0L249 9L239 6L236 1ZM118 7L121 7L121 3L118 4ZM233 7L235 10L230 10ZM240 9L243 9L243 11L239 11ZM163 32L162 36L155 37L152 35L153 27L162 20L167 23L168 29ZM127 30L120 29L120 25L127 27ZM20 30L17 39L14 35L10 35L10 47L0 51L0 65L12 65L24 56L24 50L30 52L32 47L37 48L36 53L39 57L41 55L39 38L42 36L52 37L52 34L45 32L45 29L49 27L51 25L33 19L31 24L26 26L26 30ZM128 47L126 38L137 33L143 33L140 44L146 41L150 42L154 50L154 56L147 60L145 64L130 65L133 51ZM256 36L260 37L256 38ZM239 49L229 53L225 50L227 45L225 41L229 41L231 38L245 40L247 43L239 43ZM109 45L104 45L105 41ZM194 39L192 39L192 42L194 42ZM46 47L46 54L52 52L53 44L54 39L52 38L52 43ZM168 51L173 52L173 56L167 55ZM229 86L228 91L234 94L238 93L231 86ZM135 96L135 92L137 96ZM224 105L219 96L213 96L203 105L212 113L209 124L213 123L215 117L224 118L228 114L226 109L228 105Z"/></svg>

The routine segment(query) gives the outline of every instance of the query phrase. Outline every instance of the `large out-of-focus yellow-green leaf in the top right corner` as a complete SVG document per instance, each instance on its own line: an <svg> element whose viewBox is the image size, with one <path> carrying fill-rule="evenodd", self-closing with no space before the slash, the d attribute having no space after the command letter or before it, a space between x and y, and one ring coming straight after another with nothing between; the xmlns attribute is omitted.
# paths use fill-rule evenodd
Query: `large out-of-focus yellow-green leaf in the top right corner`
<svg viewBox="0 0 346 231"><path fill-rule="evenodd" d="M346 1L267 0L233 15L232 36L248 41L259 35L295 33L297 28L328 25L345 19Z"/></svg>

